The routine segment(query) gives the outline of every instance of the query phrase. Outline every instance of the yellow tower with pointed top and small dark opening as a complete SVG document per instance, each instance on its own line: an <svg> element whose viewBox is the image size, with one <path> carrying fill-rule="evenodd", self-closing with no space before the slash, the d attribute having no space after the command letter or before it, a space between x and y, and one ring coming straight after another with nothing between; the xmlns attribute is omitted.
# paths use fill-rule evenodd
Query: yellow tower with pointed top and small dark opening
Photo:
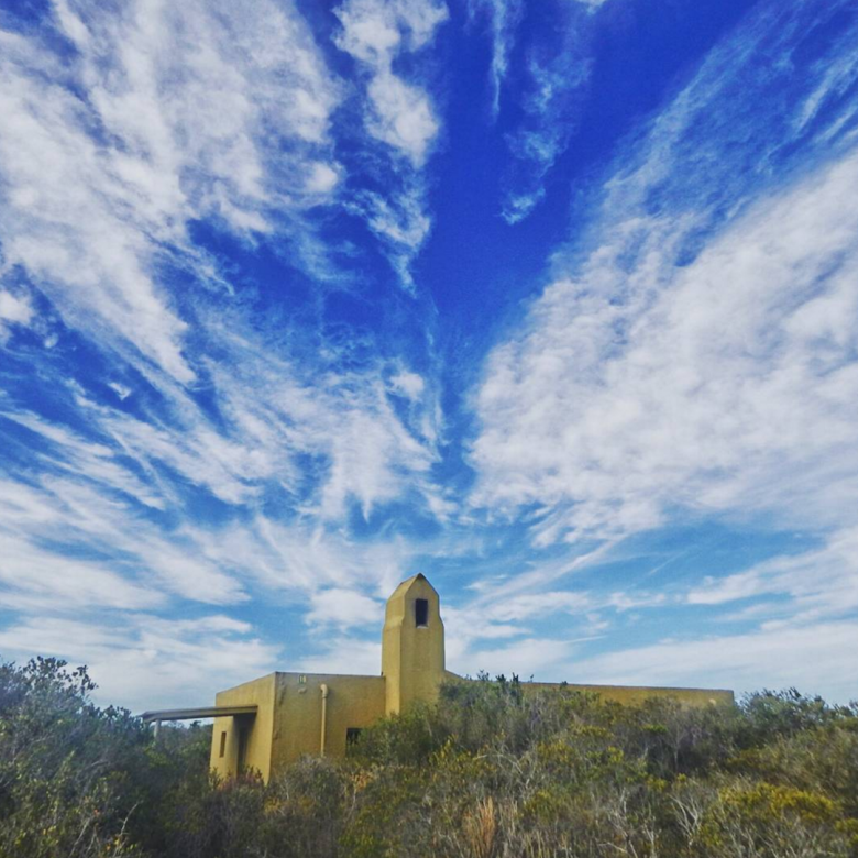
<svg viewBox="0 0 858 858"><path fill-rule="evenodd" d="M387 715L433 701L444 675L444 624L438 593L424 575L403 581L387 600L382 632Z"/></svg>

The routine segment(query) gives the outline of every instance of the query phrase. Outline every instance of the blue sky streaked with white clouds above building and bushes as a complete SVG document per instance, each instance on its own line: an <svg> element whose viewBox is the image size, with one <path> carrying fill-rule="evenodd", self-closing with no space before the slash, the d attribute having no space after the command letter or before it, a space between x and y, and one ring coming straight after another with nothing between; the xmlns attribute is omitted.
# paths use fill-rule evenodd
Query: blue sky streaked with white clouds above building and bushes
<svg viewBox="0 0 858 858"><path fill-rule="evenodd" d="M853 0L0 0L0 658L858 697Z"/></svg>

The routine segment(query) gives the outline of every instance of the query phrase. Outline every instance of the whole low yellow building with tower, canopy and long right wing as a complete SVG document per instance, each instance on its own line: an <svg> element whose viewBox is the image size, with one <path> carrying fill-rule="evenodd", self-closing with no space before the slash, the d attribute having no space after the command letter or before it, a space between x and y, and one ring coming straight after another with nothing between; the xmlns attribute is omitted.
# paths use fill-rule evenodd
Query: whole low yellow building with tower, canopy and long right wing
<svg viewBox="0 0 858 858"><path fill-rule="evenodd" d="M342 756L350 741L385 715L415 701L433 701L444 680L466 681L444 668L444 626L438 593L424 578L404 581L387 601L382 632L382 673L270 673L220 692L200 710L148 712L155 722L213 717L211 768L228 778L255 769L267 781L304 755ZM526 688L547 688L527 683ZM733 692L704 689L568 685L605 700L639 703L670 696L690 705L733 703Z"/></svg>

